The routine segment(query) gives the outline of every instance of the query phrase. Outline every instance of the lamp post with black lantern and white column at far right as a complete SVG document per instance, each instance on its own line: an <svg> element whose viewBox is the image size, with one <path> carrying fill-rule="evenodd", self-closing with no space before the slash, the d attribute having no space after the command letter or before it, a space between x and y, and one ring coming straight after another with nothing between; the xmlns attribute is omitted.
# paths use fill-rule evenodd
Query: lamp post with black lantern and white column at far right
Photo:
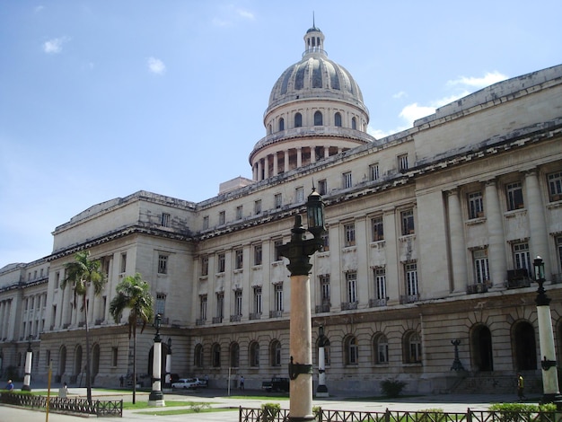
<svg viewBox="0 0 562 422"><path fill-rule="evenodd" d="M537 257L532 265L535 269L535 281L539 284L537 289L537 318L539 321L539 342L540 342L540 366L542 366L542 402L560 402L562 396L558 391L558 371L556 364L556 353L554 349L554 334L552 332L552 318L550 315L550 298L547 296L543 287L544 261Z"/></svg>

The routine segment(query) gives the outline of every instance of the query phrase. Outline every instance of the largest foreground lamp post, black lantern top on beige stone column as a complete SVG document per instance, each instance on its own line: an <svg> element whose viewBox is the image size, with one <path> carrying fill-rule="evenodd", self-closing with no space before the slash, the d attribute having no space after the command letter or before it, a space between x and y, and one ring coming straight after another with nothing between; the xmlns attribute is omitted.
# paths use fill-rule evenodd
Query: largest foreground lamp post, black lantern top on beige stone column
<svg viewBox="0 0 562 422"><path fill-rule="evenodd" d="M324 227L324 203L312 188L306 202L308 231L314 236L306 239L301 215L294 215L291 241L279 248L289 259L291 273L291 322L289 378L291 379L289 421L312 421L312 324L311 324L311 255L322 247Z"/></svg>

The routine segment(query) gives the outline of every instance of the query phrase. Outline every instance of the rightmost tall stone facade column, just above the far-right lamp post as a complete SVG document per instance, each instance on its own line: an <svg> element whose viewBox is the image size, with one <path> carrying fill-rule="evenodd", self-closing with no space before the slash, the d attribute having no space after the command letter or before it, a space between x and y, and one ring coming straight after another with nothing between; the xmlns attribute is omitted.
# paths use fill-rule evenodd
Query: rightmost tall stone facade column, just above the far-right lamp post
<svg viewBox="0 0 562 422"><path fill-rule="evenodd" d="M529 213L529 228L531 230L531 254L540 256L544 262L544 273L547 280L551 278L549 259L549 232L544 215L544 203L540 195L539 177L537 170L525 173L525 207Z"/></svg>

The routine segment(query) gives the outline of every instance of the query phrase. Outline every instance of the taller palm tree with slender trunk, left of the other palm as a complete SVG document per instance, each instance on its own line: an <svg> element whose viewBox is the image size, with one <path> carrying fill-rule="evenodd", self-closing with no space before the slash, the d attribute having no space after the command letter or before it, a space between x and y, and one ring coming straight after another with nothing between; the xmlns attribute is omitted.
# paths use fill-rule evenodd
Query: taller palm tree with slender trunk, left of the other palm
<svg viewBox="0 0 562 422"><path fill-rule="evenodd" d="M88 391L88 402L92 403L92 380L90 376L90 329L88 327L88 290L93 287L93 295L98 296L107 282L107 278L101 272L100 259L89 259L90 251L75 253L75 261L65 264L65 277L60 282L60 287L65 289L67 285L74 290L74 304L76 308L76 297L80 296L82 301L81 311L84 315L84 326L86 331L86 389Z"/></svg>

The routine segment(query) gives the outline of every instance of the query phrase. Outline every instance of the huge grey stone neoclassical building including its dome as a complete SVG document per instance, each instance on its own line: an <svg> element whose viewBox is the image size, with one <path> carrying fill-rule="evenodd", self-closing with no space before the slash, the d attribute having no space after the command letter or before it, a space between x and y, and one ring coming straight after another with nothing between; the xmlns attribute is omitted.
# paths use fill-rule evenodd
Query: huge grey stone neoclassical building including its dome
<svg viewBox="0 0 562 422"><path fill-rule="evenodd" d="M108 278L89 299L94 385L131 372L126 318L112 321L109 303L136 272L162 313L164 354L171 338L172 373L221 388L228 374L247 388L286 376L291 284L278 248L314 184L328 233L312 258L312 341L323 326L329 390L376 392L391 378L408 391L514 391L522 372L540 391L538 255L562 360L562 66L374 139L359 86L328 58L324 34L312 27L304 44L273 85L251 180L199 203L139 191L93 205L55 229L48 257L0 270L3 374L23 374L31 344L31 385L49 362L57 382L83 384L83 312L60 280L87 250ZM152 328L137 339L141 374L153 344Z"/></svg>

